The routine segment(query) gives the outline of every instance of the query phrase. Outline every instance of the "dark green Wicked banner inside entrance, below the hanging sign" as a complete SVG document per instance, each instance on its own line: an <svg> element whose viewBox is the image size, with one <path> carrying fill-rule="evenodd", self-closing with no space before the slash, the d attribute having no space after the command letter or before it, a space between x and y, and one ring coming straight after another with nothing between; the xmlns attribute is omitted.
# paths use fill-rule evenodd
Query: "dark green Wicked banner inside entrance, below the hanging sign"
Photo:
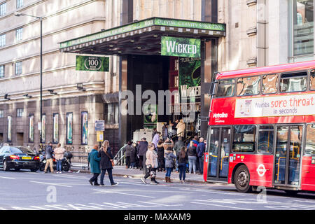
<svg viewBox="0 0 315 224"><path fill-rule="evenodd" d="M200 57L179 58L179 90L181 100L200 102L201 59Z"/></svg>

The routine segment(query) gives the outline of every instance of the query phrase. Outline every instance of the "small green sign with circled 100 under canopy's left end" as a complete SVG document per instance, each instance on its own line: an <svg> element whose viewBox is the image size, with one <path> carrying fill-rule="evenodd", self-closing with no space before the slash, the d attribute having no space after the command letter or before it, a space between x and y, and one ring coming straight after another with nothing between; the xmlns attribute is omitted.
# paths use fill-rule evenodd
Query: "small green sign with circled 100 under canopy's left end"
<svg viewBox="0 0 315 224"><path fill-rule="evenodd" d="M109 57L76 56L77 71L109 71Z"/></svg>

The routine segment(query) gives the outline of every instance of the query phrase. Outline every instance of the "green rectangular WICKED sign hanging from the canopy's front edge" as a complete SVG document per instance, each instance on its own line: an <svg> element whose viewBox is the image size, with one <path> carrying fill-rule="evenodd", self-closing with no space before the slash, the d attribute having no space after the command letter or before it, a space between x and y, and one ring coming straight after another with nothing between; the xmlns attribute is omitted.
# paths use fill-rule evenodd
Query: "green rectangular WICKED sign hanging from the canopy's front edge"
<svg viewBox="0 0 315 224"><path fill-rule="evenodd" d="M200 39L162 36L161 55L176 57L200 57Z"/></svg>

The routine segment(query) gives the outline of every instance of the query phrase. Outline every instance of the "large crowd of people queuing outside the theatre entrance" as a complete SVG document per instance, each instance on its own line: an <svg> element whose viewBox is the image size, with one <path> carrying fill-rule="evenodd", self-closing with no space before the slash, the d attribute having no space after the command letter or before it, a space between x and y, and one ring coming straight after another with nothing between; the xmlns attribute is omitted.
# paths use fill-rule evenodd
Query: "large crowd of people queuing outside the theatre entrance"
<svg viewBox="0 0 315 224"><path fill-rule="evenodd" d="M146 169L145 176L141 179L151 178L151 184L158 184L156 172L165 172L165 182L172 183L171 174L174 169L179 173L181 183L185 183L186 172L189 174L203 174L204 152L207 142L197 135L187 144L181 135L174 143L172 139L163 136L155 130L153 139L148 143L146 138L137 144L132 141L125 146L126 168Z"/></svg>

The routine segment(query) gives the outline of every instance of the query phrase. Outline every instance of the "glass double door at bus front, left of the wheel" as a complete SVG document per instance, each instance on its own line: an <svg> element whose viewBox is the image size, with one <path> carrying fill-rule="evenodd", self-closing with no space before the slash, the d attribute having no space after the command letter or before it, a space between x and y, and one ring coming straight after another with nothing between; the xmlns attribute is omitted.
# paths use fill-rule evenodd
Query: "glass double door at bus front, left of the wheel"
<svg viewBox="0 0 315 224"><path fill-rule="evenodd" d="M230 127L214 127L209 134L209 172L211 180L226 181L229 171Z"/></svg>

